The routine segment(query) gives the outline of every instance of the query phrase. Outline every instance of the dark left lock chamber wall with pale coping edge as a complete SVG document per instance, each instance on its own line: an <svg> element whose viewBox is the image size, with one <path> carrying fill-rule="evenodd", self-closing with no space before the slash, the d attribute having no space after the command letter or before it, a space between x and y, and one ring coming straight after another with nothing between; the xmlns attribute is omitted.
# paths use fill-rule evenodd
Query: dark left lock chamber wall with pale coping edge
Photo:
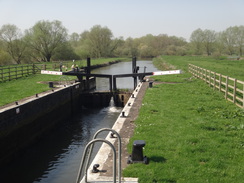
<svg viewBox="0 0 244 183"><path fill-rule="evenodd" d="M94 88L92 78L89 87ZM64 121L81 105L80 94L86 82L33 96L26 102L0 111L0 164L37 141L57 123Z"/></svg>

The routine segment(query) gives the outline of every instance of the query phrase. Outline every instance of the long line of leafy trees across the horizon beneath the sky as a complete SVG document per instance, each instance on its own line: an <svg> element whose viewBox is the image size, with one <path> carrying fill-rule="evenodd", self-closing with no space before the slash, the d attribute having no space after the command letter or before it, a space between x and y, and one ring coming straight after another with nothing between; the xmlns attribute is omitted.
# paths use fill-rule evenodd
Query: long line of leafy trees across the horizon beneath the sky
<svg viewBox="0 0 244 183"><path fill-rule="evenodd" d="M147 34L140 38L115 38L108 27L94 25L81 34L72 33L62 22L38 21L25 31L12 24L0 29L0 65L87 57L142 57L159 55L239 55L244 47L244 26L222 32L197 29L190 41L176 36Z"/></svg>

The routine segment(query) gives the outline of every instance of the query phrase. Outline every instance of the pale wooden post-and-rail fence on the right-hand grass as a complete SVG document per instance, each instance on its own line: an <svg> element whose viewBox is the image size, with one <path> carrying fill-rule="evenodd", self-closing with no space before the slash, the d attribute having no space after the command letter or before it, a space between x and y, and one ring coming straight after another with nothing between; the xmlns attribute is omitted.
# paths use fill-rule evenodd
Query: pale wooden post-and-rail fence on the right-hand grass
<svg viewBox="0 0 244 183"><path fill-rule="evenodd" d="M189 64L193 76L204 80L210 87L224 93L225 99L244 108L244 82L222 74Z"/></svg>

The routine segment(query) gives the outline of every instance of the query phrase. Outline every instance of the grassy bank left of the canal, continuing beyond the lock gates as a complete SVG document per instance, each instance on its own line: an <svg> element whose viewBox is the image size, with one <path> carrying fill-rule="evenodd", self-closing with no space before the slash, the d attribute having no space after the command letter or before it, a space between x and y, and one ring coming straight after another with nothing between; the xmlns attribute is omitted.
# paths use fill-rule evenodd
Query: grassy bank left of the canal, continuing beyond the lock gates
<svg viewBox="0 0 244 183"><path fill-rule="evenodd" d="M114 60L115 58L92 59L91 65L104 64ZM86 64L85 61L81 61L81 62L76 61L76 63L78 65L79 63L82 63L82 66L85 66ZM52 65L53 63L49 63L49 64ZM51 69L52 67L48 67L48 68ZM70 77L70 76L67 78L69 80L77 79L76 77ZM21 79L13 80L13 81L0 83L0 106L18 101L25 97L35 95L36 93L47 91L50 89L47 84L48 81L60 81L60 80L61 80L60 76L36 74ZM44 81L44 83L46 84L40 83L41 81Z"/></svg>

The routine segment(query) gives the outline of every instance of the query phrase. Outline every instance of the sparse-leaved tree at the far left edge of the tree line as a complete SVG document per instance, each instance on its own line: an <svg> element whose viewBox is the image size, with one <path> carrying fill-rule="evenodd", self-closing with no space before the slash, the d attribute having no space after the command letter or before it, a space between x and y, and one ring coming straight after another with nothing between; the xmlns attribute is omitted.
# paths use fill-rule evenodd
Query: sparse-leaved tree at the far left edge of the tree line
<svg viewBox="0 0 244 183"><path fill-rule="evenodd" d="M15 25L3 25L0 29L0 39L3 41L6 51L17 64L20 64L26 49L21 30Z"/></svg>

